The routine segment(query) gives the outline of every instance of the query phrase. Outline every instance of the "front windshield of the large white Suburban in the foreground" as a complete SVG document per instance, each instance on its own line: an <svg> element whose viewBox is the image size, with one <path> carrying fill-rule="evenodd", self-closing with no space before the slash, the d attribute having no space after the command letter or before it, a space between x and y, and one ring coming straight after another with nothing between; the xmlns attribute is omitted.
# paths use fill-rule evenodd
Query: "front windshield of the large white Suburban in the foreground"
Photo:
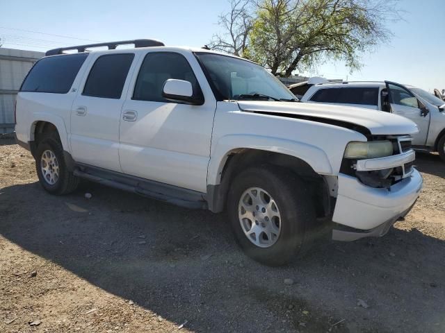
<svg viewBox="0 0 445 333"><path fill-rule="evenodd" d="M213 53L195 53L219 99L295 101L285 85L253 62Z"/></svg>

